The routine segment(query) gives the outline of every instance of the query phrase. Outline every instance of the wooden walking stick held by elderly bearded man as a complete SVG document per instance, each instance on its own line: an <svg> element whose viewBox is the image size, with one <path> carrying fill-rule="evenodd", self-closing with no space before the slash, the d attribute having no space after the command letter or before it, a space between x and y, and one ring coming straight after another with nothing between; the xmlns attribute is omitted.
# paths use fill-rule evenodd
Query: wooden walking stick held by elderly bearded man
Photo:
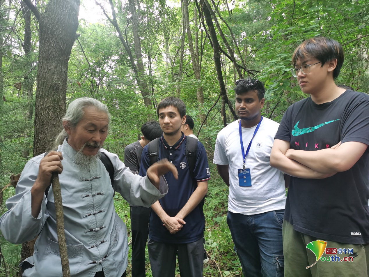
<svg viewBox="0 0 369 277"><path fill-rule="evenodd" d="M64 214L63 214L62 193L60 190L58 172L52 173L51 184L52 184L52 192L54 193L56 230L58 234L60 259L62 260L63 277L70 277L68 252L67 252L67 245L65 242L65 232L64 232Z"/></svg>

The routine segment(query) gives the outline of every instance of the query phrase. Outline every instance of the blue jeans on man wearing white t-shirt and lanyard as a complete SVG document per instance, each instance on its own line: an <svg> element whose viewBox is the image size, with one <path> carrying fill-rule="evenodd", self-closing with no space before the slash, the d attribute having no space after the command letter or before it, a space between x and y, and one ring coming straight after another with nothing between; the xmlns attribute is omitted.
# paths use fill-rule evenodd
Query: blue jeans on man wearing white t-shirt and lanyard
<svg viewBox="0 0 369 277"><path fill-rule="evenodd" d="M284 210L242 215L228 212L227 223L247 277L283 277Z"/></svg>

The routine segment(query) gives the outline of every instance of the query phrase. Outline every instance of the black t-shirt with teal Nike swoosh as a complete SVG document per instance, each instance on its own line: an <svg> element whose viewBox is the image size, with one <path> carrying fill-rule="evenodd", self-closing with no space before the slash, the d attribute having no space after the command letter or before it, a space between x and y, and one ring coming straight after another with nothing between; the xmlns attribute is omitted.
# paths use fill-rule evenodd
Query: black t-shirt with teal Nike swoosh
<svg viewBox="0 0 369 277"><path fill-rule="evenodd" d="M339 141L369 145L369 96L346 90L332 102L306 98L290 106L276 139L315 151ZM339 243L369 243L369 148L349 170L325 179L292 177L284 219L296 231Z"/></svg>

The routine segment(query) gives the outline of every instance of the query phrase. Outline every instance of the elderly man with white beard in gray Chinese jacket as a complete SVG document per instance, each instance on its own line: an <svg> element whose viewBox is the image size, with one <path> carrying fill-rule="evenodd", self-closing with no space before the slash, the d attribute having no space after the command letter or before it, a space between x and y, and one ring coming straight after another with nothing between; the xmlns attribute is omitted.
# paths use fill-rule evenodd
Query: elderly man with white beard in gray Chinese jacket
<svg viewBox="0 0 369 277"><path fill-rule="evenodd" d="M65 237L71 276L125 276L127 229L114 209L114 191L132 205L149 207L168 192L162 177L177 176L168 161L153 164L145 177L101 146L110 122L107 106L92 98L70 103L62 119L56 151L32 158L25 165L16 195L6 202L0 218L6 240L19 244L39 235L33 256L22 262L23 276L62 276L54 195L49 189L52 172L59 173ZM106 155L114 169L113 184L99 159Z"/></svg>

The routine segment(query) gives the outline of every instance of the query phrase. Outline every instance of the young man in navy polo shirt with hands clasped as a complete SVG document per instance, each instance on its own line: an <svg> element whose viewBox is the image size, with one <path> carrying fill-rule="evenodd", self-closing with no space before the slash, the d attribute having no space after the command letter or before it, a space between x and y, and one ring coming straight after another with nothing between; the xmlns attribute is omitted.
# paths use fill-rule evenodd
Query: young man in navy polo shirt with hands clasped
<svg viewBox="0 0 369 277"><path fill-rule="evenodd" d="M164 177L168 194L151 208L149 258L153 277L174 277L176 255L181 277L202 277L205 218L203 198L210 179L205 148L197 142L196 164L191 174L185 155L187 137L181 127L186 122L186 105L176 97L163 99L156 112L163 136L159 142L159 160L168 159L179 172L178 180L169 172ZM150 166L148 147L141 156L139 175ZM193 177L192 177L193 176Z"/></svg>

